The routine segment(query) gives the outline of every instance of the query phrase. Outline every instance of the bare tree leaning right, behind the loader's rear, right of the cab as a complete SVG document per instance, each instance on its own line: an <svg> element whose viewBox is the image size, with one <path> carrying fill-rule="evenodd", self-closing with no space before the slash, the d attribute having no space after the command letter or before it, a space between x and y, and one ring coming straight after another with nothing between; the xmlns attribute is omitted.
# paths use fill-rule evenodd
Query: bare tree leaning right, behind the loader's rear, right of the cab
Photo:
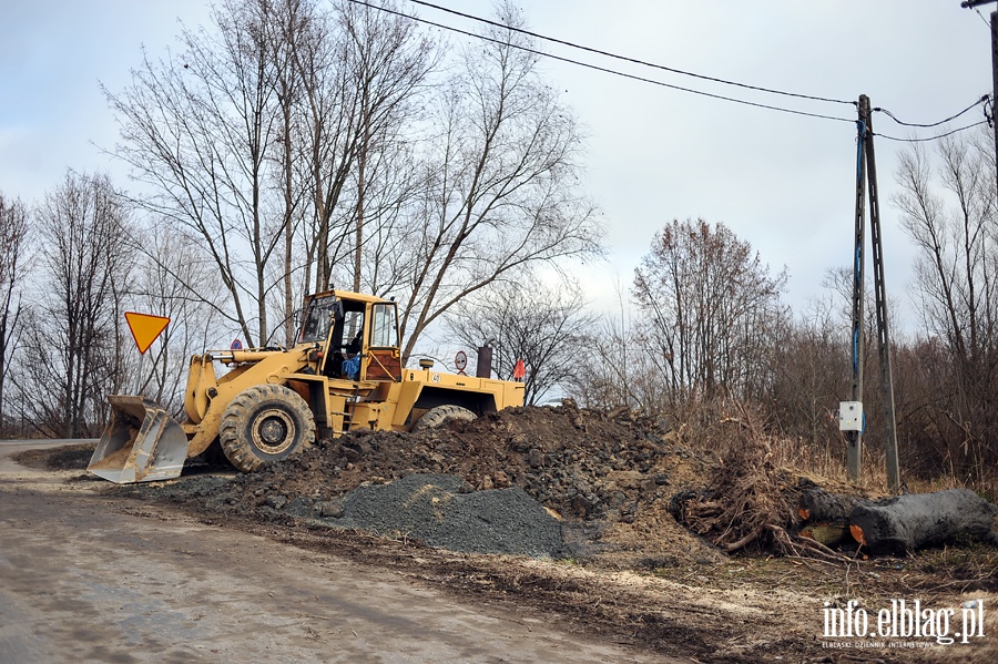
<svg viewBox="0 0 998 664"><path fill-rule="evenodd" d="M510 28L523 21L499 8ZM427 326L467 295L539 262L600 253L577 183L580 133L547 85L533 44L492 28L464 51L434 110L427 195L413 211L401 311L408 358Z"/></svg>

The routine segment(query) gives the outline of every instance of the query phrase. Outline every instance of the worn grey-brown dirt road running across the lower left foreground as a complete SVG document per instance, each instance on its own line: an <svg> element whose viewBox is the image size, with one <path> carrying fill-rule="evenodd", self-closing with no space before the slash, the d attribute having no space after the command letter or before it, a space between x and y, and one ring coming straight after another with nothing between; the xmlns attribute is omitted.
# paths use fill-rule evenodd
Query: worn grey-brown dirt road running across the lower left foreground
<svg viewBox="0 0 998 664"><path fill-rule="evenodd" d="M24 449L0 443L0 663L679 661L100 496Z"/></svg>

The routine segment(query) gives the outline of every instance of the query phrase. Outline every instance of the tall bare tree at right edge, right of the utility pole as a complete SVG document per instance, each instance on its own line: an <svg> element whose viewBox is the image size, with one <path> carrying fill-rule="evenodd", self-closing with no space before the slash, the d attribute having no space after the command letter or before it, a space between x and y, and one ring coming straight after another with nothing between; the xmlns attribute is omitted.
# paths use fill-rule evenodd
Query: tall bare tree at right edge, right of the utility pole
<svg viewBox="0 0 998 664"><path fill-rule="evenodd" d="M915 144L902 155L902 191L893 200L918 247L926 331L953 362L953 372L940 376L951 382L938 386L933 408L948 421L935 430L949 438L945 461L957 476L984 477L998 459L998 215L989 142L984 133L949 136L937 145L935 168Z"/></svg>

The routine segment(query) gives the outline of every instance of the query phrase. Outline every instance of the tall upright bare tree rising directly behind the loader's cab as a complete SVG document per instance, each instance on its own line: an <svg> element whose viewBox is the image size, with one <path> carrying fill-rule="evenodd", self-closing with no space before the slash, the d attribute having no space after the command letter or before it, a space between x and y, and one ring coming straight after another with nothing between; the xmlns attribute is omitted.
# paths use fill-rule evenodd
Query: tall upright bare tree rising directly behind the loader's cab
<svg viewBox="0 0 998 664"><path fill-rule="evenodd" d="M314 279L316 290L326 289L338 270L335 276L359 289L369 265L367 227L377 231L384 222L370 205L388 186L379 180L410 180L415 173L394 157L420 105L420 86L436 67L435 47L391 1L380 3L389 11L346 0L330 10L304 0L286 6L294 19L285 21L283 48L291 57L297 119L287 145L305 165L312 202L302 236L304 283Z"/></svg>

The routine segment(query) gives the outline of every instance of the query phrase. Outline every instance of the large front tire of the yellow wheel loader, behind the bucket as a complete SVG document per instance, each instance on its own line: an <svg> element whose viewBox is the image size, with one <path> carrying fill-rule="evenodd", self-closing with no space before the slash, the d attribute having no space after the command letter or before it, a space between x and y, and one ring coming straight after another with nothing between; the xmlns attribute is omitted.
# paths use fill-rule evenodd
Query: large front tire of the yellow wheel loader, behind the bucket
<svg viewBox="0 0 998 664"><path fill-rule="evenodd" d="M315 442L315 418L305 399L283 385L243 390L222 415L218 442L236 469L252 472Z"/></svg>

